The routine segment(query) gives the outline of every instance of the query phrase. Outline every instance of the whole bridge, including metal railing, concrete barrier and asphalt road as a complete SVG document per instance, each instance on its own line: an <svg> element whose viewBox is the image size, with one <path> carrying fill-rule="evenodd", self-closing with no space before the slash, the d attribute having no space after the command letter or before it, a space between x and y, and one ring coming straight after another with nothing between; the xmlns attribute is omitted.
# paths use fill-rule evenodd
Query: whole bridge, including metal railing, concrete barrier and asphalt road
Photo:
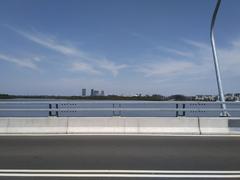
<svg viewBox="0 0 240 180"><path fill-rule="evenodd" d="M240 103L224 103L232 116L222 102L1 101L0 179L239 179Z"/></svg>

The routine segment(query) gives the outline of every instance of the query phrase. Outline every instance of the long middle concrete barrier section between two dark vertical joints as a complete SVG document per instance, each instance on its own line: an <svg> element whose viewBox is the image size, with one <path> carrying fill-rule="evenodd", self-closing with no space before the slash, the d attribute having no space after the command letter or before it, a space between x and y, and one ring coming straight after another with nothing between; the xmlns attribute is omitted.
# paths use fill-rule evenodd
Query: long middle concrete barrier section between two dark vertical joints
<svg viewBox="0 0 240 180"><path fill-rule="evenodd" d="M197 118L81 117L68 118L69 134L199 134Z"/></svg>

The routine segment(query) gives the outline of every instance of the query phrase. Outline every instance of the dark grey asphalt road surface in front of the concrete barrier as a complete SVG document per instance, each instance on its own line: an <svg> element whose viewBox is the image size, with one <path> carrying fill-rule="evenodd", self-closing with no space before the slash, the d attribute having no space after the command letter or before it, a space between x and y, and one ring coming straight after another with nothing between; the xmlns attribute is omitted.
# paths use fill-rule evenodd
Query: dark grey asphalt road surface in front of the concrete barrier
<svg viewBox="0 0 240 180"><path fill-rule="evenodd" d="M4 169L239 171L240 137L0 136Z"/></svg>

